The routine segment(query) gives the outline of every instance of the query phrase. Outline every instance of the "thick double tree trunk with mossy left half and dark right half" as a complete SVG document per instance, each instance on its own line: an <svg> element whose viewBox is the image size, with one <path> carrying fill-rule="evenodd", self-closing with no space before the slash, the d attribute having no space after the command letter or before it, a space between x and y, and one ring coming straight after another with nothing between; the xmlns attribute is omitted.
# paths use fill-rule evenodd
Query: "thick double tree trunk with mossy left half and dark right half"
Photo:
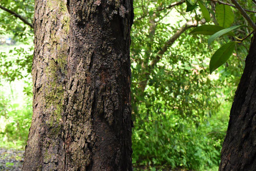
<svg viewBox="0 0 256 171"><path fill-rule="evenodd" d="M132 170L132 20L132 0L36 1L23 170Z"/></svg>

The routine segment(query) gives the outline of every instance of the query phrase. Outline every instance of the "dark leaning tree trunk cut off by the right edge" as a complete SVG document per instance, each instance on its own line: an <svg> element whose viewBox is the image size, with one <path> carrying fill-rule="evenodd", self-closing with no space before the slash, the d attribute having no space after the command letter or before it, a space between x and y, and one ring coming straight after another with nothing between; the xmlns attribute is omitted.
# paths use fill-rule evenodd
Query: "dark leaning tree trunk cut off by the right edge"
<svg viewBox="0 0 256 171"><path fill-rule="evenodd" d="M256 170L256 40L245 61L221 151L219 170Z"/></svg>

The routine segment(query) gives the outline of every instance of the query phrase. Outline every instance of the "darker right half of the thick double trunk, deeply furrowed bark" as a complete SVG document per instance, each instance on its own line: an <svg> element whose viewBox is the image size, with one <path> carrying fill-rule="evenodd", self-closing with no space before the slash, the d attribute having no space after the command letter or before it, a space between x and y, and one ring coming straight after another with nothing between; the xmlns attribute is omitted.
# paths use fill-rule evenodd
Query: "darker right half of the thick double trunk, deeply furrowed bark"
<svg viewBox="0 0 256 171"><path fill-rule="evenodd" d="M65 169L132 170L132 0L82 2L69 6Z"/></svg>

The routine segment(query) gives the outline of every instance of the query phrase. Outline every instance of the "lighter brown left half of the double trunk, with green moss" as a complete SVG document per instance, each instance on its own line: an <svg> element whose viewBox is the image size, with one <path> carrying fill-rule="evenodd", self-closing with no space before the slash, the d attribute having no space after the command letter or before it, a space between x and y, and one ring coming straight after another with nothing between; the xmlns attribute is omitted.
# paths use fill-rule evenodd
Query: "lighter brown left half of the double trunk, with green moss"
<svg viewBox="0 0 256 171"><path fill-rule="evenodd" d="M61 113L67 72L68 34L66 0L35 1L33 116L23 170L63 168Z"/></svg>

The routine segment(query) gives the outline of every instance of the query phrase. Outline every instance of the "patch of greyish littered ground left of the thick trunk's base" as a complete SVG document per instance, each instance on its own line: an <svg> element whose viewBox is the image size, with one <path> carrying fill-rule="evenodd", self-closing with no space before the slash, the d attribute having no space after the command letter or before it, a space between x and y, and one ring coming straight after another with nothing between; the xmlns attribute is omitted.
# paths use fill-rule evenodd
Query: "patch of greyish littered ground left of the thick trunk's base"
<svg viewBox="0 0 256 171"><path fill-rule="evenodd" d="M24 151L16 149L0 148L0 170L19 171L22 170Z"/></svg>

